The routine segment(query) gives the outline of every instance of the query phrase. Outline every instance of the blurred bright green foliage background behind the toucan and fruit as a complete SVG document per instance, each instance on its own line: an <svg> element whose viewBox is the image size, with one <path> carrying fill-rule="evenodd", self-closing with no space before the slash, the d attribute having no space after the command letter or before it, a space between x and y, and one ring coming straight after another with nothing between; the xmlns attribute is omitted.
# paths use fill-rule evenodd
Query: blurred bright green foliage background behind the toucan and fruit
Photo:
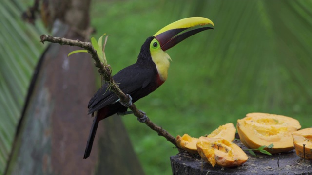
<svg viewBox="0 0 312 175"><path fill-rule="evenodd" d="M172 135L199 137L249 112L312 126L311 9L311 0L96 0L91 19L96 38L111 35L105 51L114 73L173 21L203 16L215 23L167 52L168 80L136 103ZM123 121L146 174L171 174L173 145L133 116Z"/></svg>

